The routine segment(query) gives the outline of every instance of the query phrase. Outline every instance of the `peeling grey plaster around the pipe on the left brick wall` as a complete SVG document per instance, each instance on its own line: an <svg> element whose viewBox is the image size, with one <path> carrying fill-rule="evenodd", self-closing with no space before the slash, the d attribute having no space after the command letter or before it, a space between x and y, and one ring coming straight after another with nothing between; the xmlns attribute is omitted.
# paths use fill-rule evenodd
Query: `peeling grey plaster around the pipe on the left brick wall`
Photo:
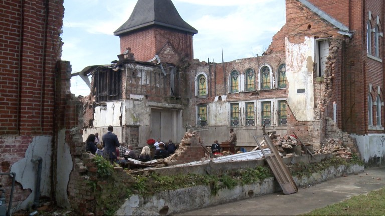
<svg viewBox="0 0 385 216"><path fill-rule="evenodd" d="M10 138L12 139L12 138ZM9 140L12 142L12 140ZM42 175L40 181L40 195L50 196L51 193L51 156L52 136L37 136L32 139L26 150L25 157L11 166L11 172L16 173L15 180L22 184L23 189L31 189L31 194L16 206L16 209L25 209L31 206L35 199L38 163L32 163L33 156L42 158Z"/></svg>

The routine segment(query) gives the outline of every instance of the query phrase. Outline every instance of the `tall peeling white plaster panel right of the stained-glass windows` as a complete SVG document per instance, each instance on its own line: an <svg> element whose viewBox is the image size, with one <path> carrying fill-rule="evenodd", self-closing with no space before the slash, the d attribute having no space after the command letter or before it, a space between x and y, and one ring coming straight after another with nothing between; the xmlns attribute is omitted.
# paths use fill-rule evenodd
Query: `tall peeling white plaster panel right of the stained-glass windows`
<svg viewBox="0 0 385 216"><path fill-rule="evenodd" d="M287 104L298 121L314 119L313 62L314 38L305 37L301 44L286 42L286 78L289 83ZM305 89L305 93L297 93Z"/></svg>

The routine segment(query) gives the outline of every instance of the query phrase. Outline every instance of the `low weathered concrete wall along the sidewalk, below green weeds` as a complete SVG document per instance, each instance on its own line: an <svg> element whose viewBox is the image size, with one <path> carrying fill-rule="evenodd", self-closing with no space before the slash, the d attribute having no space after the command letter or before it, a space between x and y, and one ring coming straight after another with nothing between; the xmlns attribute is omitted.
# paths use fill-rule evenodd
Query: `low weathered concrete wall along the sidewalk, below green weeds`
<svg viewBox="0 0 385 216"><path fill-rule="evenodd" d="M255 161L253 161L255 163ZM343 174L362 172L363 166L342 165L330 167L310 177L293 177L298 186L311 185L326 181ZM211 195L209 186L195 186L173 191L160 192L151 197L133 195L119 208L117 215L159 215L176 214L198 208L214 206L241 199L261 196L282 191L274 178L267 178L263 182L238 185L233 189L221 189L216 195Z"/></svg>

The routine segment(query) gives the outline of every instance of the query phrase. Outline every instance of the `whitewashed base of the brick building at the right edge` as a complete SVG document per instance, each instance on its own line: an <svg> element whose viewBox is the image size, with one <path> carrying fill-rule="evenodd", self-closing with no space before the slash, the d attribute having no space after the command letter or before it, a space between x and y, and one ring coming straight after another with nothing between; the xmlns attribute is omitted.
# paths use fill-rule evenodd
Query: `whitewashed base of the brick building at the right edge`
<svg viewBox="0 0 385 216"><path fill-rule="evenodd" d="M385 134L351 135L357 141L361 159L369 165L384 165Z"/></svg>

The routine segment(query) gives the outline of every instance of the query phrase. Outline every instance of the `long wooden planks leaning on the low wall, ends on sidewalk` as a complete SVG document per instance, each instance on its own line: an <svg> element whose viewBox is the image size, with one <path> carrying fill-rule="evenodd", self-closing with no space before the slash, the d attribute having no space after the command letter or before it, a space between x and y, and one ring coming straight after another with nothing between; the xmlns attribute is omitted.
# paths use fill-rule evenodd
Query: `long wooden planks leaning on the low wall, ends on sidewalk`
<svg viewBox="0 0 385 216"><path fill-rule="evenodd" d="M271 142L270 137L265 132L265 127L263 127L262 131L263 131L263 138L266 142L266 145L270 149L270 152L272 152L271 154L265 154L262 151L263 156L265 157L267 163L269 164L271 170L273 171L273 174L277 179L279 185L281 186L283 193L285 195L296 193L298 191L298 187L295 184L289 169L287 168L286 164L283 162L277 148ZM254 136L254 140L257 142L259 148L262 149L262 147L260 146L257 140L257 137L258 136Z"/></svg>

